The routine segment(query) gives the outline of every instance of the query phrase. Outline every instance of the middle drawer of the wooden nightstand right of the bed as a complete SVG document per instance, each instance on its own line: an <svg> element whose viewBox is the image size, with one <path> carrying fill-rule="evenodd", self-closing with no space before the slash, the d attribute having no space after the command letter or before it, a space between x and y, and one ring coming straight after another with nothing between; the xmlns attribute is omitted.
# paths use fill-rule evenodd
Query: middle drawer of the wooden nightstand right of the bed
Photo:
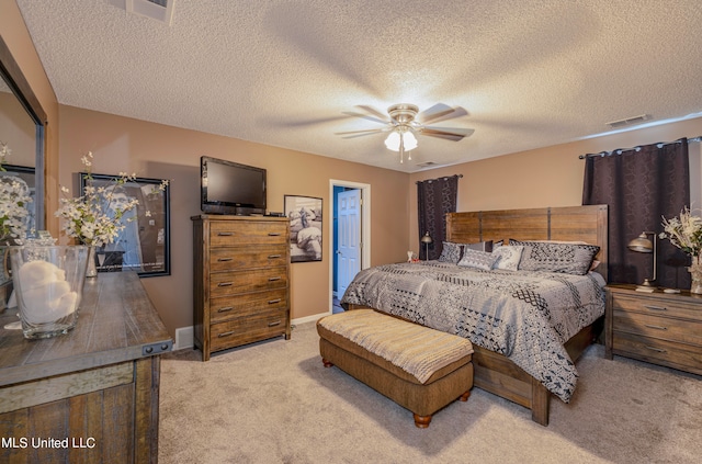
<svg viewBox="0 0 702 464"><path fill-rule="evenodd" d="M661 317L658 315L624 312L612 313L618 331L637 333L663 340L697 344L702 349L702 322Z"/></svg>

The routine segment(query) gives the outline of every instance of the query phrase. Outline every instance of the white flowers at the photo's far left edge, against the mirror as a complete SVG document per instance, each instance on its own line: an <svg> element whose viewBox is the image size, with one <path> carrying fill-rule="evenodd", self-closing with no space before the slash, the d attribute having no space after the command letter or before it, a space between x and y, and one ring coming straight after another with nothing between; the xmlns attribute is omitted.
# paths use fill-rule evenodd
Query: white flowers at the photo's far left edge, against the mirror
<svg viewBox="0 0 702 464"><path fill-rule="evenodd" d="M5 170L2 165L11 151L0 140L0 171ZM26 204L31 201L26 183L11 177L0 178L0 244L12 245L11 241L20 242L26 237L25 219L30 214Z"/></svg>

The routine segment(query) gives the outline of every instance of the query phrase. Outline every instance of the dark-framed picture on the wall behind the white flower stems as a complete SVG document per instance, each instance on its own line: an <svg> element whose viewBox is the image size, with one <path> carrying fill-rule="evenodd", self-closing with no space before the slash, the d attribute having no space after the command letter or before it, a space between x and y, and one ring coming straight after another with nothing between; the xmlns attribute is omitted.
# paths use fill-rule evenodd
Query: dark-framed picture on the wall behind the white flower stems
<svg viewBox="0 0 702 464"><path fill-rule="evenodd" d="M87 176L80 173L81 192L88 183ZM133 199L139 202L123 216L125 227L114 242L95 249L98 272L136 271L141 278L170 275L170 186L159 190L162 179L145 178L114 186L115 176L90 176L95 189L118 189L112 192L110 204L105 201L106 208Z"/></svg>

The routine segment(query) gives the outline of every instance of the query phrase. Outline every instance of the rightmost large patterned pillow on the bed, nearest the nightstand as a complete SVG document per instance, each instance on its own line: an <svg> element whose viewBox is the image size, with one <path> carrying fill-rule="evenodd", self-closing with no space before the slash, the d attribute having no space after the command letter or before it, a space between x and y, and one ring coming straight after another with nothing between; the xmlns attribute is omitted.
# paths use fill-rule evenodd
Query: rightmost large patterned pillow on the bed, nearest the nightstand
<svg viewBox="0 0 702 464"><path fill-rule="evenodd" d="M509 245L524 247L519 262L520 270L576 275L587 274L595 256L600 251L600 247L596 245L519 241L511 238Z"/></svg>

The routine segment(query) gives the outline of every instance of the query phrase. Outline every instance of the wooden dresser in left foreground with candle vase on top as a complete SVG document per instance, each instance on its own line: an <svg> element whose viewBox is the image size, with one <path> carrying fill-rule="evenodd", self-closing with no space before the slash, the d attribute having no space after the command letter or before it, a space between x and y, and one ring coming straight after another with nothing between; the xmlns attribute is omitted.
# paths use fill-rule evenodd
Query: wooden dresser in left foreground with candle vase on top
<svg viewBox="0 0 702 464"><path fill-rule="evenodd" d="M26 340L0 314L0 462L158 461L160 353L172 340L134 272L89 279L76 328Z"/></svg>

